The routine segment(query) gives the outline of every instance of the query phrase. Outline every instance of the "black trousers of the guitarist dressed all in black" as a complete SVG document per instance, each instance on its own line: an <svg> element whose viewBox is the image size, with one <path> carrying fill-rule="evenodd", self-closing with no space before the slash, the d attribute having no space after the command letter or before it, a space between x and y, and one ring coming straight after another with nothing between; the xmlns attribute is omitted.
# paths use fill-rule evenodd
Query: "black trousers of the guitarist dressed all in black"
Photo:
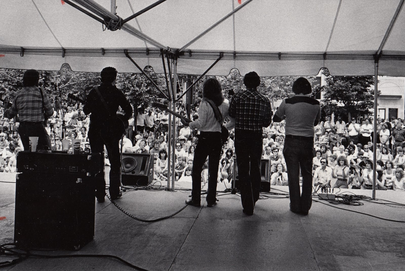
<svg viewBox="0 0 405 271"><path fill-rule="evenodd" d="M121 158L119 154L119 147L118 147L118 140L113 141L111 139L102 139L101 131L98 127L91 127L89 128L89 132L87 134L89 142L90 142L90 149L92 152L99 152L101 154L104 153L104 145L107 149L108 159L110 161L110 196L117 196L119 194L119 186L120 180L119 177L121 175ZM97 198L104 198L105 194L105 178L104 178L104 156L101 155L101 164L100 164L100 173L98 173L96 177L96 196Z"/></svg>

